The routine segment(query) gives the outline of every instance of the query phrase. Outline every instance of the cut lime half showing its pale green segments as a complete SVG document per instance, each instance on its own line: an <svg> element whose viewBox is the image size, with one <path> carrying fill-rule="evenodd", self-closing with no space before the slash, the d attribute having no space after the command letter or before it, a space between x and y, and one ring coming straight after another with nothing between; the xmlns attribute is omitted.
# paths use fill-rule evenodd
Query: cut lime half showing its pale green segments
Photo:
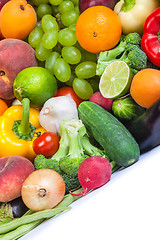
<svg viewBox="0 0 160 240"><path fill-rule="evenodd" d="M117 98L125 95L133 78L130 67L123 61L114 61L104 70L99 90L105 98Z"/></svg>

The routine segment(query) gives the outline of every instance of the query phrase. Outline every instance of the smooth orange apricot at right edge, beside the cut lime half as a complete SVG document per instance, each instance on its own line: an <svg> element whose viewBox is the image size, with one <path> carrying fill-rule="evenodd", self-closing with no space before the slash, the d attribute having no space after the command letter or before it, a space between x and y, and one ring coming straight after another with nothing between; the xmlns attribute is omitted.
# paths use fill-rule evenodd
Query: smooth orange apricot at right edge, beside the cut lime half
<svg viewBox="0 0 160 240"><path fill-rule="evenodd" d="M130 93L142 107L151 107L160 99L160 71L147 68L139 71L132 80Z"/></svg>

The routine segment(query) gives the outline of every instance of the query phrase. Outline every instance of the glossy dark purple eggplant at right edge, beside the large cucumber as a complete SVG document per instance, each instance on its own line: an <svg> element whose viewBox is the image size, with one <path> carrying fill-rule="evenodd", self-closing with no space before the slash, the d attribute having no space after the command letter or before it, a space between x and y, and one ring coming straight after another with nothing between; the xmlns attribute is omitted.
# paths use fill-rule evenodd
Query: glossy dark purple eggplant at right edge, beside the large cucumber
<svg viewBox="0 0 160 240"><path fill-rule="evenodd" d="M160 100L140 117L126 124L136 139L141 153L160 145Z"/></svg>

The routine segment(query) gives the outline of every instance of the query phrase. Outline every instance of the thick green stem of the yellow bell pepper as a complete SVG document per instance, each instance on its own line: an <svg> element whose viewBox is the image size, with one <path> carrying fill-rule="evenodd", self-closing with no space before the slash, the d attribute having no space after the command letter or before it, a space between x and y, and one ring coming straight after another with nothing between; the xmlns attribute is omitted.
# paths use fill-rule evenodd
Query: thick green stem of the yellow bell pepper
<svg viewBox="0 0 160 240"><path fill-rule="evenodd" d="M30 134L29 109L30 109L30 100L28 98L23 98L23 100L22 100L22 119L21 119L20 125L18 126L18 131L22 135Z"/></svg>

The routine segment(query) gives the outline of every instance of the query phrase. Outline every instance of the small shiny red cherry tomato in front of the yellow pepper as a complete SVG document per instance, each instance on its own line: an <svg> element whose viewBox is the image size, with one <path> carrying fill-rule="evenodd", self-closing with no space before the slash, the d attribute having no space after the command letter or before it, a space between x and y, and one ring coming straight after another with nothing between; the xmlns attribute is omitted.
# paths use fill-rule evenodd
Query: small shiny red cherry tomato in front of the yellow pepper
<svg viewBox="0 0 160 240"><path fill-rule="evenodd" d="M53 132L44 132L33 141L33 150L39 155L52 157L59 148L59 137Z"/></svg>

